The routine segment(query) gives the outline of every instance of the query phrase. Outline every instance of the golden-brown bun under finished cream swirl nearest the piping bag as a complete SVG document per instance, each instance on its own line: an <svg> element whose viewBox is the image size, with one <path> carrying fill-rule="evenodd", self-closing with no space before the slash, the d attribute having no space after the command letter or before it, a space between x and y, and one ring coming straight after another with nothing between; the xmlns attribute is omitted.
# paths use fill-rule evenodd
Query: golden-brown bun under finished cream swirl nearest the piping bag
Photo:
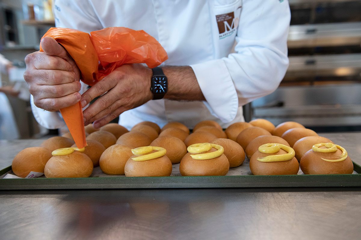
<svg viewBox="0 0 361 240"><path fill-rule="evenodd" d="M172 162L166 155L146 161L134 161L129 158L124 172L127 177L167 177L172 173Z"/></svg>

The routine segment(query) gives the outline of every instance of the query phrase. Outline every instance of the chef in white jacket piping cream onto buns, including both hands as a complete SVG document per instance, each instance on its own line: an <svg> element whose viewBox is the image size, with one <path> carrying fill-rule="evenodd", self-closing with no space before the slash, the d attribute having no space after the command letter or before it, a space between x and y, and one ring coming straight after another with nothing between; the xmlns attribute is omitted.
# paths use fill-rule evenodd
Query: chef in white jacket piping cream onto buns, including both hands
<svg viewBox="0 0 361 240"><path fill-rule="evenodd" d="M43 39L44 52L26 57L25 80L46 128L65 125L58 109L79 100L85 107L104 93L84 110L85 124L100 127L120 114L127 128L141 121L192 128L205 119L227 127L244 121L242 106L273 92L288 67L287 0L56 0L54 12L57 27L128 27L155 37L168 53L160 66L168 92L151 91L154 73L141 64L123 65L84 92L65 49Z"/></svg>

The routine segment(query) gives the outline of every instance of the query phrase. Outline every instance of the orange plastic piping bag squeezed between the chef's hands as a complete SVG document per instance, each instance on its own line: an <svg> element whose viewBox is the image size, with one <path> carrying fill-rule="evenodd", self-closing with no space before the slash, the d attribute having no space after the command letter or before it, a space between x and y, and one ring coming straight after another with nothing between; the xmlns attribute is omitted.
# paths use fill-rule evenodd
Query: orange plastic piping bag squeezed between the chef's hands
<svg viewBox="0 0 361 240"><path fill-rule="evenodd" d="M81 72L81 81L90 86L123 64L145 63L154 68L168 59L160 43L143 30L109 27L89 35L69 28L50 28L43 37L52 37L68 51ZM77 147L86 146L80 101L60 109L60 113Z"/></svg>

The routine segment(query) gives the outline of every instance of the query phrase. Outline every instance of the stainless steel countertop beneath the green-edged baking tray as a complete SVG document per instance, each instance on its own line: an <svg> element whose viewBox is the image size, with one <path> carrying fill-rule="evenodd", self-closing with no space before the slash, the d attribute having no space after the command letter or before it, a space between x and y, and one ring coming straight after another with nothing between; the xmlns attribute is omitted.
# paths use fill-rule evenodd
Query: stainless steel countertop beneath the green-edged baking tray
<svg viewBox="0 0 361 240"><path fill-rule="evenodd" d="M361 133L319 135L361 164ZM41 141L0 141L0 167ZM0 239L360 239L360 190L0 191Z"/></svg>

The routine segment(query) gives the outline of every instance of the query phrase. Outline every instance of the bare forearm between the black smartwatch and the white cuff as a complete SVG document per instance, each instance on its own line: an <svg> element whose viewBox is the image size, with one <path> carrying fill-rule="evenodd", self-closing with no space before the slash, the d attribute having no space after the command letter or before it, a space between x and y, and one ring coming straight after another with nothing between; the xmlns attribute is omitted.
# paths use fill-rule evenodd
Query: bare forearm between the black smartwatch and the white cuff
<svg viewBox="0 0 361 240"><path fill-rule="evenodd" d="M168 78L168 92L164 98L190 101L205 100L190 66L164 66L162 69Z"/></svg>

